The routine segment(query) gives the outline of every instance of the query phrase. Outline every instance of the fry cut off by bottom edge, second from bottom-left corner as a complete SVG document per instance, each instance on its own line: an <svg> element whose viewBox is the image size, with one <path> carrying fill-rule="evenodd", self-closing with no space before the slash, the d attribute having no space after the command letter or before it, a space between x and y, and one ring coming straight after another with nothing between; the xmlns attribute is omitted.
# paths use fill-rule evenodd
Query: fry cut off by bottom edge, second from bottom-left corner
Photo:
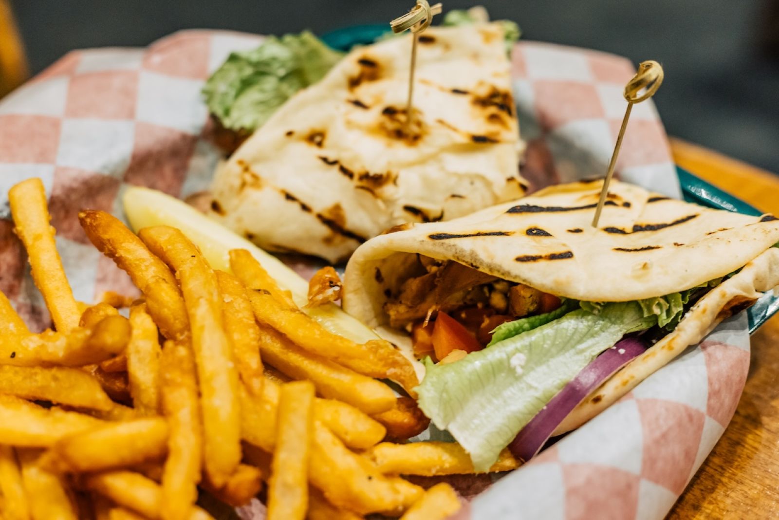
<svg viewBox="0 0 779 520"><path fill-rule="evenodd" d="M78 511L69 490L61 477L49 473L38 465L37 450L19 450L22 464L22 481L30 500L32 520L78 520Z"/></svg>

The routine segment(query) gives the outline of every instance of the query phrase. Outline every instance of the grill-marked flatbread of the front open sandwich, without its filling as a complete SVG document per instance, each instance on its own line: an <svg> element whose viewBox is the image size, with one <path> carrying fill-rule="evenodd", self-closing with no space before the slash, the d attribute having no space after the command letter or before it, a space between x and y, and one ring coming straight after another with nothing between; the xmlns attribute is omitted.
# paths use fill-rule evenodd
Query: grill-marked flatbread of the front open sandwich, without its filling
<svg viewBox="0 0 779 520"><path fill-rule="evenodd" d="M671 332L580 402L556 433L579 427L779 285L774 216L707 209L617 181L596 229L591 221L601 186L553 186L460 219L375 237L347 265L344 307L368 325L402 326L402 320L393 323L398 305L392 302L417 276L419 258L457 262L490 276L488 281L508 280L585 302L663 297L729 276L687 309ZM407 316L425 316L426 310Z"/></svg>

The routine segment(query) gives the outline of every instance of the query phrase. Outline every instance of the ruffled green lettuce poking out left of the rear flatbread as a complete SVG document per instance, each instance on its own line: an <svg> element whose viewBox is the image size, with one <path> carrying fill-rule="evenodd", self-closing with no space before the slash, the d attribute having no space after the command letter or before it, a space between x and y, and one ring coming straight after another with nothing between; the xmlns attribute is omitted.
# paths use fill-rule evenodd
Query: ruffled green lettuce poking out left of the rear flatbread
<svg viewBox="0 0 779 520"><path fill-rule="evenodd" d="M268 37L256 49L230 54L206 81L203 97L225 128L253 132L343 55L308 31Z"/></svg>

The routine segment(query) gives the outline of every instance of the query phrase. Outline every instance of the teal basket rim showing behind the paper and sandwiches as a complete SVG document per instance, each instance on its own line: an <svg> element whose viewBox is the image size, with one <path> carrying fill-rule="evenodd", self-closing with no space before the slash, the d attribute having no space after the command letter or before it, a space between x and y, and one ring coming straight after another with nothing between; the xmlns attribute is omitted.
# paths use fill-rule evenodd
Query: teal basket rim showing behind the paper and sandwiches
<svg viewBox="0 0 779 520"><path fill-rule="evenodd" d="M389 23L377 23L333 30L324 34L322 40L334 49L349 51L355 45L372 44L377 38L389 32ZM682 195L687 202L695 202L707 208L725 209L745 215L762 215L760 210L703 181L700 177L696 177L681 167L676 167L676 174L679 176ZM760 325L763 325L777 311L779 311L779 297L767 293L766 296L760 298L746 311L749 316L749 333L752 334L760 329Z"/></svg>

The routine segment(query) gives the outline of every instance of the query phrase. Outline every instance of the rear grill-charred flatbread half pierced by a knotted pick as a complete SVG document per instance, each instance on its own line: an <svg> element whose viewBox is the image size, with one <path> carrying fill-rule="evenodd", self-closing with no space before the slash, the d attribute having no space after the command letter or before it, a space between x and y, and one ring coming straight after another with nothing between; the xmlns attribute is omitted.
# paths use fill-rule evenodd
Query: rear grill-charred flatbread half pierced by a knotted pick
<svg viewBox="0 0 779 520"><path fill-rule="evenodd" d="M336 262L389 227L521 196L501 27L425 31L408 127L410 47L359 47L287 101L217 171L212 216L263 248Z"/></svg>

